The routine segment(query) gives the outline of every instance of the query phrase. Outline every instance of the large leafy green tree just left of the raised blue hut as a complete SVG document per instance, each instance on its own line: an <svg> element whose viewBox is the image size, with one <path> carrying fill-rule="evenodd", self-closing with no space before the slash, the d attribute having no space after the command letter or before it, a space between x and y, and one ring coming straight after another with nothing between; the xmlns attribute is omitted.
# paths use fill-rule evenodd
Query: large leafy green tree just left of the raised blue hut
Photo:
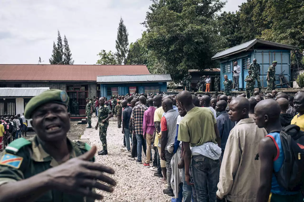
<svg viewBox="0 0 304 202"><path fill-rule="evenodd" d="M223 43L215 13L220 0L153 0L147 12L147 48L164 72L180 81L188 69L216 67L211 57Z"/></svg>

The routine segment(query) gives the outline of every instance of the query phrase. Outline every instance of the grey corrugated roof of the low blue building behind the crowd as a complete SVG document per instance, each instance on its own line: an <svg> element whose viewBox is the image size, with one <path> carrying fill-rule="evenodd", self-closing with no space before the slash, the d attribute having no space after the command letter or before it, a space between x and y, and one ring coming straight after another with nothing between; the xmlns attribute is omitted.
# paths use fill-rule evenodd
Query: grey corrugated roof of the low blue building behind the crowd
<svg viewBox="0 0 304 202"><path fill-rule="evenodd" d="M149 82L149 81L171 81L170 74L146 74L146 75L120 75L120 76L97 76L98 83L120 83L120 82Z"/></svg>

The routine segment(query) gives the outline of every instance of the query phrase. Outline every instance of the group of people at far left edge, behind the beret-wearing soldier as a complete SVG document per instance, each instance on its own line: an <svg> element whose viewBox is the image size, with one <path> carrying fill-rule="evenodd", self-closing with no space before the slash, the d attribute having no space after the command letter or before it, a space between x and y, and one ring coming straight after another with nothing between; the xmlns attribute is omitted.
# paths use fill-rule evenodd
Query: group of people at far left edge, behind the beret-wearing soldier
<svg viewBox="0 0 304 202"><path fill-rule="evenodd" d="M1 117L0 125L0 151L5 149L13 140L25 137L27 130L27 120L24 115L20 116L20 114L17 114L11 116L10 114L4 114Z"/></svg>

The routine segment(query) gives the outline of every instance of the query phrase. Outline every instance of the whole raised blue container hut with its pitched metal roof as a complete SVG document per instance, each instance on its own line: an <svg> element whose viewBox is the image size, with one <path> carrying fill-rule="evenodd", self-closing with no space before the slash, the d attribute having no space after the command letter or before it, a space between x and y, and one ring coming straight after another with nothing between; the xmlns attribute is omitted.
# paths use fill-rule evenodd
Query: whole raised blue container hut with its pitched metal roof
<svg viewBox="0 0 304 202"><path fill-rule="evenodd" d="M290 50L297 47L291 45L278 44L274 42L268 42L260 39L254 39L232 48L226 49L222 52L216 53L212 57L212 60L219 60L220 62L220 77L221 77L221 90L224 90L224 75L228 76L228 79L233 81L233 66L237 61L241 67L239 77L239 88L245 89L246 82L244 79L248 75L248 69L253 59L257 59L257 62L261 66L261 86L267 87L267 71L268 67L272 65L272 61L276 60L277 66L275 67L276 84L280 83L279 74L283 73L285 78L290 81ZM257 87L257 82L255 82ZM286 86L283 86L286 87Z"/></svg>

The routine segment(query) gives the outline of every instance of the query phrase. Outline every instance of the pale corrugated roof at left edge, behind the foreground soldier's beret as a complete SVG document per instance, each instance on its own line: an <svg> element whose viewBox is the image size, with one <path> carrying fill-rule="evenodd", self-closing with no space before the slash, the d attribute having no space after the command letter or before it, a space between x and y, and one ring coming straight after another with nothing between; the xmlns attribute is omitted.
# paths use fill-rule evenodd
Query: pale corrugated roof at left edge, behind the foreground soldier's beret
<svg viewBox="0 0 304 202"><path fill-rule="evenodd" d="M50 88L0 88L0 97L34 97Z"/></svg>

